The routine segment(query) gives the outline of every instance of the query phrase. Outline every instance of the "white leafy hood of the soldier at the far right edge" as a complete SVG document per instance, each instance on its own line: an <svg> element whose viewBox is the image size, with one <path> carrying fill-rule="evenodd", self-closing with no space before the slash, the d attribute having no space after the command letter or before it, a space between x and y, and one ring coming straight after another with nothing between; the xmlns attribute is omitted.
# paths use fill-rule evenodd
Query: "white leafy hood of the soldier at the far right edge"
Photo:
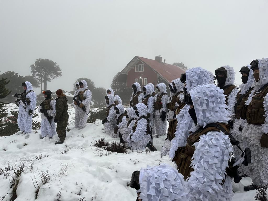
<svg viewBox="0 0 268 201"><path fill-rule="evenodd" d="M259 61L260 78L259 81L256 82L254 85L255 91L259 91L260 88L262 88L262 86L268 83L268 58L258 59L258 61Z"/></svg>

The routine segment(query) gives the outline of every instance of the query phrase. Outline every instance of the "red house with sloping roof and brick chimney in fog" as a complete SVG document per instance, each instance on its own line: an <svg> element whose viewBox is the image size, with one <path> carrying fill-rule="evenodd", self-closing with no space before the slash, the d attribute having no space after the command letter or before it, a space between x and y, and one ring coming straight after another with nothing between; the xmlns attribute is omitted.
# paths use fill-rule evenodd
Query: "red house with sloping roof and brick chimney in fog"
<svg viewBox="0 0 268 201"><path fill-rule="evenodd" d="M147 83L156 86L163 82L167 85L185 73L186 69L162 62L162 56L155 56L154 59L135 56L113 80L113 90L121 96L123 103L128 103L132 94L131 85L138 82L142 87Z"/></svg>

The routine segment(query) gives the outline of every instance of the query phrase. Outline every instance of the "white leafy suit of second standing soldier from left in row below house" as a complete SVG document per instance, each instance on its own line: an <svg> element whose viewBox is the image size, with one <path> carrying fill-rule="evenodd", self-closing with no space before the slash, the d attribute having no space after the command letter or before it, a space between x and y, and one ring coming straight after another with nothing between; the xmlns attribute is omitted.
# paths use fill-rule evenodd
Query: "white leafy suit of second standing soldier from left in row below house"
<svg viewBox="0 0 268 201"><path fill-rule="evenodd" d="M144 86L146 88L146 94L142 99L142 103L147 106L147 115L150 117L148 119L150 122L154 121L154 97L152 97L152 87L149 85ZM150 123L150 128L152 129L152 125Z"/></svg>

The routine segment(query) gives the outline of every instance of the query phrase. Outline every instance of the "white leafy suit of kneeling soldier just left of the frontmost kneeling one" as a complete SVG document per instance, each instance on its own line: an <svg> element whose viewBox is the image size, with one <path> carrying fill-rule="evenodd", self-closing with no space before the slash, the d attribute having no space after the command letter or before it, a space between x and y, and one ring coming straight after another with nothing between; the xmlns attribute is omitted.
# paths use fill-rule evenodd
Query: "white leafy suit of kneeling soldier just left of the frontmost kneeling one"
<svg viewBox="0 0 268 201"><path fill-rule="evenodd" d="M128 147L130 147L131 145L128 143L127 139L129 137L130 132L132 131L132 128L135 125L138 117L135 114L135 110L132 107L128 107L126 109L126 114L128 117L126 120L128 122L127 122L126 128L122 128L121 135L122 135L122 139L124 140L124 142L127 144Z"/></svg>

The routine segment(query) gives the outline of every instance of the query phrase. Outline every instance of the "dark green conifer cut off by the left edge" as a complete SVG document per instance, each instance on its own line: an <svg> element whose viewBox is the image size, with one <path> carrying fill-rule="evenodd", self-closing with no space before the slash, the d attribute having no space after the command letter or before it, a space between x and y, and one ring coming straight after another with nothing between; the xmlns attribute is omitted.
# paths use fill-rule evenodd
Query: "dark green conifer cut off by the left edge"
<svg viewBox="0 0 268 201"><path fill-rule="evenodd" d="M8 83L9 81L7 81L7 78L2 78L0 80L0 100L5 98L11 93L11 91L5 87L5 85ZM4 108L6 104L9 104L9 103L4 103L0 101L0 134L3 132L3 128L7 124L7 122L3 121L4 118L8 115L8 113L6 112L6 109Z"/></svg>

